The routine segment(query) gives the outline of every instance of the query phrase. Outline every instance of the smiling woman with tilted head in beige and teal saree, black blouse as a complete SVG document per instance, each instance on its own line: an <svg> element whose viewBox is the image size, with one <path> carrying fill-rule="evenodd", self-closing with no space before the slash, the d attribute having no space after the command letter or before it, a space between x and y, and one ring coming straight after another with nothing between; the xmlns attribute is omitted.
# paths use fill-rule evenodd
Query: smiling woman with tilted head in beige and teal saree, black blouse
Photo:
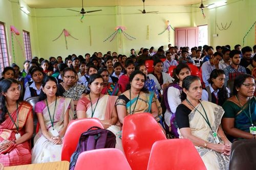
<svg viewBox="0 0 256 170"><path fill-rule="evenodd" d="M140 70L132 72L130 76L130 83L127 86L127 90L124 91L116 101L117 114L120 123L123 123L123 119L126 115L149 112L151 113L157 122L160 122L162 118L162 109L160 104L157 104L157 98L155 93L148 92L144 87L146 75Z"/></svg>

